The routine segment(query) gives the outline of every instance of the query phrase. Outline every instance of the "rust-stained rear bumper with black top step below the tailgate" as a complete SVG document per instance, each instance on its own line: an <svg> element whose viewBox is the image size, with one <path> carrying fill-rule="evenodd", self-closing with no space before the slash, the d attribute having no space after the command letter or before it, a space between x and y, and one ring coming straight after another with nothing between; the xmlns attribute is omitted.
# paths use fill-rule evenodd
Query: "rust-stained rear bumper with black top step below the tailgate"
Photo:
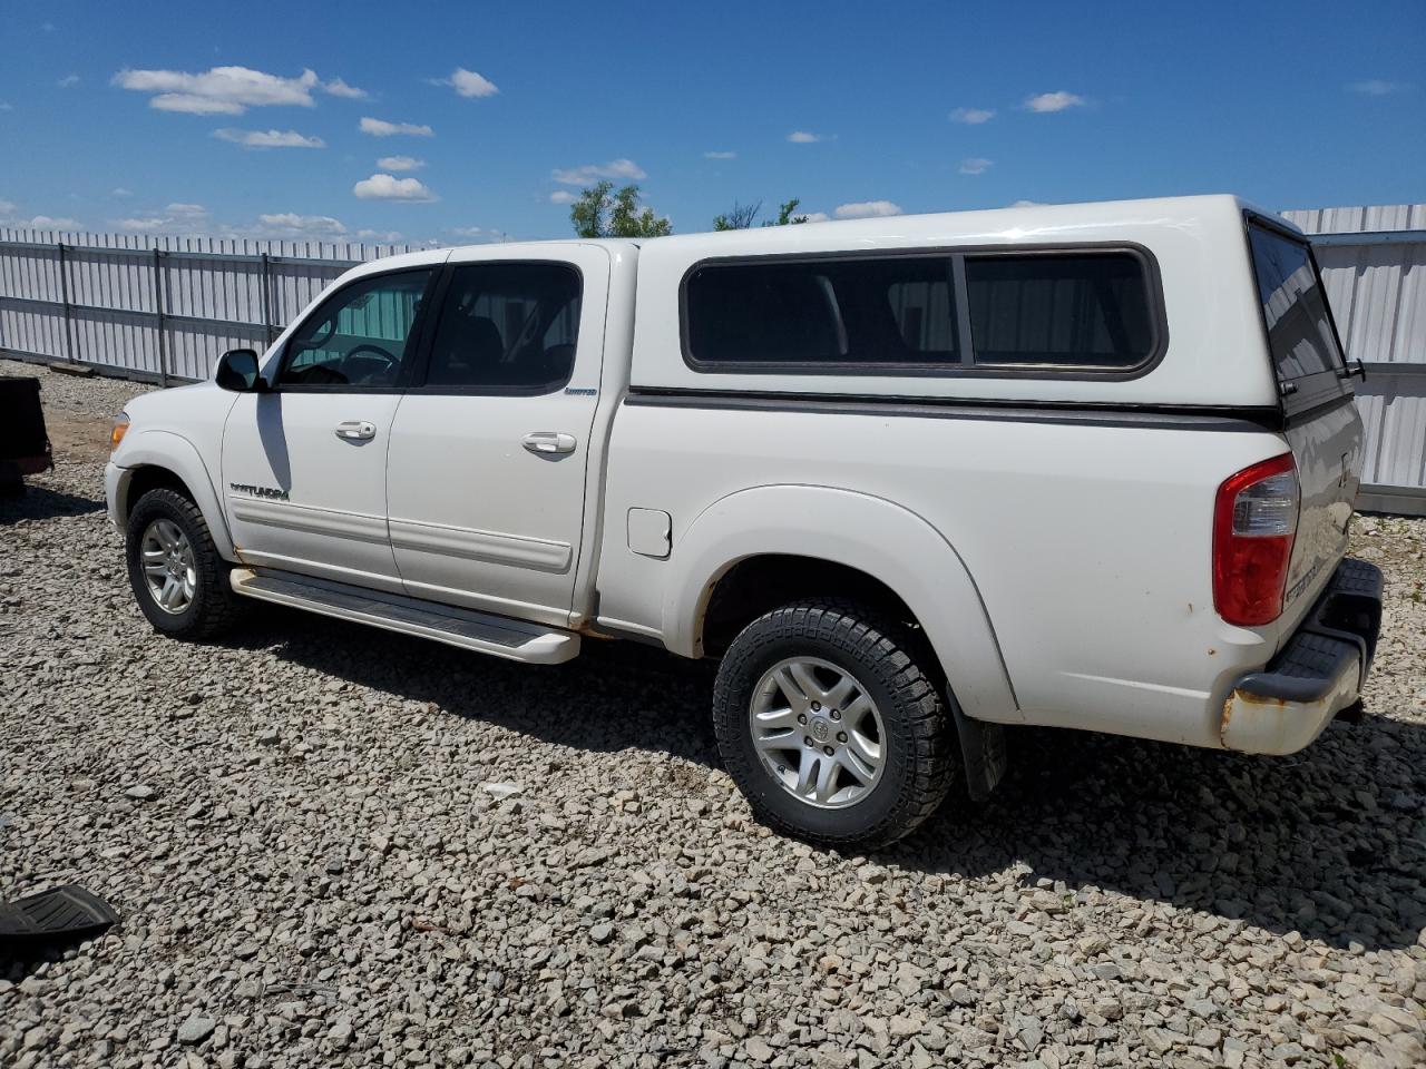
<svg viewBox="0 0 1426 1069"><path fill-rule="evenodd" d="M1382 627L1382 570L1346 559L1268 667L1241 676L1219 738L1245 754L1292 754L1315 740L1366 681Z"/></svg>

